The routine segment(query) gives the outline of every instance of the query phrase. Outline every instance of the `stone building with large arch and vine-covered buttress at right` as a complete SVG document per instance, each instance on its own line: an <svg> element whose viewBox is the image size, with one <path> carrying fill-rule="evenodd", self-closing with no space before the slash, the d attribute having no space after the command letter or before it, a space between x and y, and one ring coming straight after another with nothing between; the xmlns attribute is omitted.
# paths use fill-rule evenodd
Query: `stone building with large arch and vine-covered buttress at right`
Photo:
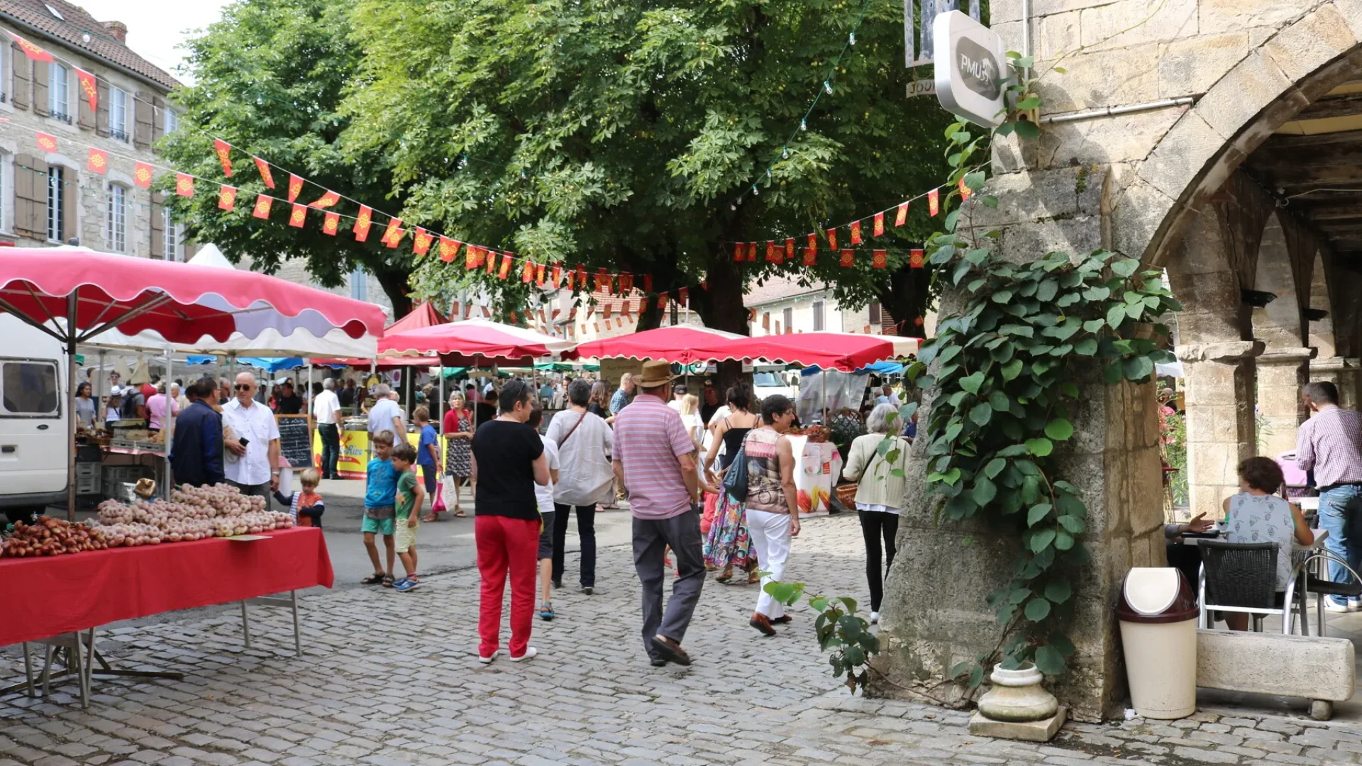
<svg viewBox="0 0 1362 766"><path fill-rule="evenodd" d="M1008 49L1036 57L1039 139L993 149L1007 258L1110 248L1167 270L1184 309L1192 511L1219 515L1235 465L1290 450L1298 387L1335 382L1357 402L1362 292L1362 0L996 0ZM1030 10L1030 18L1023 12ZM1061 65L1068 74L1051 70ZM944 297L951 305L951 296ZM925 406L930 406L930 391ZM1062 455L1090 508L1069 635L1051 679L1080 720L1125 696L1113 613L1133 566L1162 566L1152 386L1081 387ZM1256 423L1256 417L1260 423ZM913 461L925 463L925 444ZM930 683L992 650L983 596L1011 574L1013 533L937 525L910 470L881 613L881 692Z"/></svg>

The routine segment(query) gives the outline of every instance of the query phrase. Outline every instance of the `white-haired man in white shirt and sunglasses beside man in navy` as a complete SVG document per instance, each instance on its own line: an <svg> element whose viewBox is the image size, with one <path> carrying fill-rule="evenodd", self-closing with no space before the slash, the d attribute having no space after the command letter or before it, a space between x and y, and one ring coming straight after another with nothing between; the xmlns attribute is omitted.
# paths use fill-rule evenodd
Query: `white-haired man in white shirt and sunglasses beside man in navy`
<svg viewBox="0 0 1362 766"><path fill-rule="evenodd" d="M223 462L227 484L242 495L264 497L270 507L270 495L279 488L279 424L270 408L255 401L256 379L249 372L237 375L233 387L236 398L222 406L222 440L227 448Z"/></svg>

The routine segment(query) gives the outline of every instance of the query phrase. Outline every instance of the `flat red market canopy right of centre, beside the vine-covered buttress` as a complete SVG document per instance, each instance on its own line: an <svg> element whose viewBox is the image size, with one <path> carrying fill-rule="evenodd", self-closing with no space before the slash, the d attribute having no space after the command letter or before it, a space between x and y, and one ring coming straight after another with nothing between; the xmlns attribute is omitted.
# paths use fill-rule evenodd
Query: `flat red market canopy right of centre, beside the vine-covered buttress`
<svg viewBox="0 0 1362 766"><path fill-rule="evenodd" d="M918 350L918 338L898 335L862 335L859 333L789 333L738 338L696 348L695 358L757 360L771 363L819 365L823 369L853 372L868 364L899 358Z"/></svg>

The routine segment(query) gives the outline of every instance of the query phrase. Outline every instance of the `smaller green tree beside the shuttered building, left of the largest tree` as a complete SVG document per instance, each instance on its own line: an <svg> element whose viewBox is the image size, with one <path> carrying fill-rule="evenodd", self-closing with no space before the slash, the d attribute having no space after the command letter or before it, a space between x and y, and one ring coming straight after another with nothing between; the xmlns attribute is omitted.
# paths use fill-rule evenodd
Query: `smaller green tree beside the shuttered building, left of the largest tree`
<svg viewBox="0 0 1362 766"><path fill-rule="evenodd" d="M287 198L287 172L376 207L396 210L405 203L387 150L342 150L349 120L338 106L361 63L350 11L351 4L342 0L237 0L219 22L189 41L195 85L176 91L174 101L184 109L181 129L168 135L161 150L177 169L236 185L240 196L236 210L225 213L218 210L218 189L199 184L192 199L170 195L169 204L195 239L218 244L233 259L249 256L266 273L285 259L305 259L316 281L335 286L347 273L364 269L400 316L409 308L409 248L384 248L381 232L358 243L347 219L336 236L328 236L321 232L320 211L309 211L302 229L289 226L289 206L282 200L267 221L251 215L257 192ZM230 180L210 136L241 150L233 153ZM248 154L278 165L274 191L266 188ZM169 181L159 180L162 188ZM312 202L321 192L309 184L298 202ZM342 200L332 210L354 215L358 206Z"/></svg>

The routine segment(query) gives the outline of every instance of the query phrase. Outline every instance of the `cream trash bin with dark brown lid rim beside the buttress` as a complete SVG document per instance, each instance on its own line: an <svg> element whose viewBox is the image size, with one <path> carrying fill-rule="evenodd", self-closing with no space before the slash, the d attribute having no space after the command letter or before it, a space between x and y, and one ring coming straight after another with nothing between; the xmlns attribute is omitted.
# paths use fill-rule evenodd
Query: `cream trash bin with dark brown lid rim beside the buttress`
<svg viewBox="0 0 1362 766"><path fill-rule="evenodd" d="M1115 613L1135 711L1162 720L1196 713L1197 605L1182 572L1132 568Z"/></svg>

